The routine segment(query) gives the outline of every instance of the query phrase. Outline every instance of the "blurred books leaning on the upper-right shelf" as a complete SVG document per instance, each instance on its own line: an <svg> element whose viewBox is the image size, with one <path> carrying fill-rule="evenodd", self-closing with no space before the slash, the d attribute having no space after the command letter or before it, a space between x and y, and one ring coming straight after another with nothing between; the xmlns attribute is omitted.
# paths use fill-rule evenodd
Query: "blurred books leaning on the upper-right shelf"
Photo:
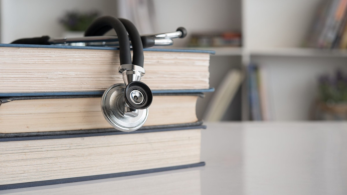
<svg viewBox="0 0 347 195"><path fill-rule="evenodd" d="M347 0L322 1L316 10L305 47L347 48Z"/></svg>

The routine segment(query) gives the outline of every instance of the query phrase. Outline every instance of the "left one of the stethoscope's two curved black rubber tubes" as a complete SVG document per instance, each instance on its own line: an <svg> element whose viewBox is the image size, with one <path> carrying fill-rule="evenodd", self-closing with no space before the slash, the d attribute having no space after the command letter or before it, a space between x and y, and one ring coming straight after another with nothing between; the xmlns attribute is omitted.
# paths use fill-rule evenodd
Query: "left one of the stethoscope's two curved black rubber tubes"
<svg viewBox="0 0 347 195"><path fill-rule="evenodd" d="M112 28L115 29L118 36L120 64L132 64L128 33L118 18L102 16L94 20L86 29L84 36L101 36Z"/></svg>

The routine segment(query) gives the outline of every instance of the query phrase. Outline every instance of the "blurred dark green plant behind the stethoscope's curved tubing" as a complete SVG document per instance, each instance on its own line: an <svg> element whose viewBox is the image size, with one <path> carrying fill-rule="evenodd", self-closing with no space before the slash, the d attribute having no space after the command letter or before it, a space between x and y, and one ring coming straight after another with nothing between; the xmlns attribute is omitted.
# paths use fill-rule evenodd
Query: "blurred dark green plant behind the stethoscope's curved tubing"
<svg viewBox="0 0 347 195"><path fill-rule="evenodd" d="M79 12L68 11L59 22L69 31L85 31L87 27L99 16L98 11Z"/></svg>

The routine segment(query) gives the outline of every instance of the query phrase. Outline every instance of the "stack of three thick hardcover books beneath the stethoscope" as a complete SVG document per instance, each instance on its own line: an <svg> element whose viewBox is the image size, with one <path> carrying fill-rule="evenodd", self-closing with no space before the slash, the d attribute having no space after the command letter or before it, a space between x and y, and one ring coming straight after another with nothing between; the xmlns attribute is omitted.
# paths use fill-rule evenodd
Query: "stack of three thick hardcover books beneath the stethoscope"
<svg viewBox="0 0 347 195"><path fill-rule="evenodd" d="M212 51L144 49L153 92L145 125L105 121L105 89L123 83L117 48L0 44L0 189L203 166L196 101Z"/></svg>

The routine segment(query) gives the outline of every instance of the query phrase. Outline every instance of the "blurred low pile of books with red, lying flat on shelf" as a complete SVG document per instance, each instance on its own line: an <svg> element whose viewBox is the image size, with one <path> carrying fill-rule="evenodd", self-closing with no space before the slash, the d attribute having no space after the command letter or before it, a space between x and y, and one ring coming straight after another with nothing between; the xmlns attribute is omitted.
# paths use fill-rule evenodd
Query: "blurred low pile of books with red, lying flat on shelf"
<svg viewBox="0 0 347 195"><path fill-rule="evenodd" d="M192 34L188 43L191 47L239 47L241 46L241 33L238 32L212 32Z"/></svg>

